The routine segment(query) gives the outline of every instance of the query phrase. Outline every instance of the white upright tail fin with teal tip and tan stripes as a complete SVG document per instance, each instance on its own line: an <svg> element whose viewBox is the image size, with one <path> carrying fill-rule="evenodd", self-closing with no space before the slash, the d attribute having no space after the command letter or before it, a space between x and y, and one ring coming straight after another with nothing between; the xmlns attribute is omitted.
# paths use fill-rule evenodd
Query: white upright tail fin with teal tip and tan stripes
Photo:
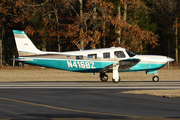
<svg viewBox="0 0 180 120"><path fill-rule="evenodd" d="M24 31L13 30L14 38L19 56L29 56L41 54L32 41L28 38Z"/></svg>

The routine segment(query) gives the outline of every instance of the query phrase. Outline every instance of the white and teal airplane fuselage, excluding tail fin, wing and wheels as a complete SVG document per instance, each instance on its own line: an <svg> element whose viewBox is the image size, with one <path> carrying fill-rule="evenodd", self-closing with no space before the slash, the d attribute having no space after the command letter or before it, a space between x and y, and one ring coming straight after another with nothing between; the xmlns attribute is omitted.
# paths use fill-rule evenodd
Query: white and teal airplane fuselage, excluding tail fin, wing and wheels
<svg viewBox="0 0 180 120"><path fill-rule="evenodd" d="M31 54L31 53L29 53ZM154 71L162 68L170 58L158 55L136 55L131 51L111 47L71 52L43 52L36 55L21 56L26 64L62 69L74 72L99 72L101 69L125 59L139 59L140 62L128 69L119 72ZM108 71L111 72L111 71Z"/></svg>

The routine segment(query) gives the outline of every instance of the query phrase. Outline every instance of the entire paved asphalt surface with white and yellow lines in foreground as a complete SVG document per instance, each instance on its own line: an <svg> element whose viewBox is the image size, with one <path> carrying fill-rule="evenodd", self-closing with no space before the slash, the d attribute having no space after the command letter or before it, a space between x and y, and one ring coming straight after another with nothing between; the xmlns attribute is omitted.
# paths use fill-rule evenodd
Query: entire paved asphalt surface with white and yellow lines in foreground
<svg viewBox="0 0 180 120"><path fill-rule="evenodd" d="M0 83L0 120L180 119L180 98L121 93L159 88L180 82Z"/></svg>

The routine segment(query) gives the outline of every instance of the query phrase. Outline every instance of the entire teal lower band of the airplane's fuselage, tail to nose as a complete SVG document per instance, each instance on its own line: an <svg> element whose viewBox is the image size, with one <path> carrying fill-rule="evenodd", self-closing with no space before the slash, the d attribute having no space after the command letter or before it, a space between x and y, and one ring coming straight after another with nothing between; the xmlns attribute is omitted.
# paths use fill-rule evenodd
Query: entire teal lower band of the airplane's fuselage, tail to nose
<svg viewBox="0 0 180 120"><path fill-rule="evenodd" d="M55 68L73 72L99 72L99 70L117 61L97 61L97 60L72 60L72 59L37 59L34 61L24 61L23 63L38 65L48 68ZM135 66L120 72L158 70L165 64L160 63L138 63Z"/></svg>

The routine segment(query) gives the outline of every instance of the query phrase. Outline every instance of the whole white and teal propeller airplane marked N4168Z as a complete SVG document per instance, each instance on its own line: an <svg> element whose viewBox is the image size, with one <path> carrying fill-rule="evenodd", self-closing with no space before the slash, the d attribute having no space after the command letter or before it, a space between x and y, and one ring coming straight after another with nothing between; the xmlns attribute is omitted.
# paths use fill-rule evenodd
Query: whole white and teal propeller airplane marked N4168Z
<svg viewBox="0 0 180 120"><path fill-rule="evenodd" d="M145 71L154 74L152 80L159 81L157 70L174 59L159 55L136 55L121 48L80 50L71 52L44 52L38 50L24 31L13 30L19 57L14 60L25 64L43 66L74 72L100 73L102 82L108 80L106 73L112 72L114 83L120 81L119 72Z"/></svg>

